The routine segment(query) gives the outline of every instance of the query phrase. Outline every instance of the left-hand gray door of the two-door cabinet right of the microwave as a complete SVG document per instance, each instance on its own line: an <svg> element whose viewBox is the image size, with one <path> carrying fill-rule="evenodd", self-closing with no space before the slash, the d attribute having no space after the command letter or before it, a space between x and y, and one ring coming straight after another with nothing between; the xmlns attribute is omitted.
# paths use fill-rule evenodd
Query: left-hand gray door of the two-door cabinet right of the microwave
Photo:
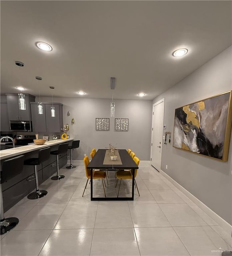
<svg viewBox="0 0 232 256"><path fill-rule="evenodd" d="M43 105L43 114L38 114L38 104L30 104L32 111L32 127L33 132L46 132L46 113L45 104Z"/></svg>

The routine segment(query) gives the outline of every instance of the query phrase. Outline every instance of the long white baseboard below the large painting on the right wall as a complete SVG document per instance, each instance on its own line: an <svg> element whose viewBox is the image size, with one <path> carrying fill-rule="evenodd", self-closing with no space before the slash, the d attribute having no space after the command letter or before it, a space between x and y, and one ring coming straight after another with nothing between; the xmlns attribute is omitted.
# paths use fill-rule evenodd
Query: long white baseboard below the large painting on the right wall
<svg viewBox="0 0 232 256"><path fill-rule="evenodd" d="M177 189L179 189L183 194L186 195L192 202L194 202L199 208L201 208L210 218L212 218L220 227L222 227L229 235L231 235L232 226L228 222L226 222L223 218L221 218L218 214L216 214L213 210L211 210L208 206L202 203L198 198L192 195L188 190L179 185L173 178L171 178L168 174L163 172L163 170L159 171L166 179L168 179Z"/></svg>

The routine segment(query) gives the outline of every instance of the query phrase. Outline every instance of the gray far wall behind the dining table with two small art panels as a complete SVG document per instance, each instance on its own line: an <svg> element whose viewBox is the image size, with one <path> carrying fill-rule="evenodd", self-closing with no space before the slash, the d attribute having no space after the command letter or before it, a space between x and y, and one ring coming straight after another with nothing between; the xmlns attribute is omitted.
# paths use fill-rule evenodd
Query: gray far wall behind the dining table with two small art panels
<svg viewBox="0 0 232 256"><path fill-rule="evenodd" d="M36 99L37 100L37 99ZM51 97L41 97L43 102L51 102ZM140 160L149 160L152 127L152 100L115 100L115 118L129 118L128 132L114 131L114 117L109 117L110 99L53 98L63 103L63 121L68 123L67 134L80 140L80 148L73 151L74 160L82 160L84 153L92 148L106 148L109 143L118 149L131 148ZM70 111L71 115L67 116ZM71 124L72 117L75 124ZM109 117L110 131L96 131L95 118Z"/></svg>

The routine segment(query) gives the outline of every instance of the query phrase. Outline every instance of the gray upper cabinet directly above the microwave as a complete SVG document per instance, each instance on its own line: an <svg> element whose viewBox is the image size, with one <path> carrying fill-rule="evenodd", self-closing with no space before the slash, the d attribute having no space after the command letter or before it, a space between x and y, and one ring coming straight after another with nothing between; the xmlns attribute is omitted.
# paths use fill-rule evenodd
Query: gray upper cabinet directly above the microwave
<svg viewBox="0 0 232 256"><path fill-rule="evenodd" d="M26 110L19 109L18 94L6 94L7 95L7 108L8 117L11 121L31 121L32 113L30 109L30 102L35 102L35 96L25 94Z"/></svg>

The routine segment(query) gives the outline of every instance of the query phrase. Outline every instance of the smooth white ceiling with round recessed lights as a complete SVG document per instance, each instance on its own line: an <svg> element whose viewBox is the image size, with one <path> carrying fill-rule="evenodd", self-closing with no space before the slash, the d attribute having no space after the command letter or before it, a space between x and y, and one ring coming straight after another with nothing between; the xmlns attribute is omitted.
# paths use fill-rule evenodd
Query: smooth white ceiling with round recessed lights
<svg viewBox="0 0 232 256"><path fill-rule="evenodd" d="M38 95L41 76L42 96L154 99L232 44L231 3L1 1L1 94L21 83ZM174 58L178 48L189 52Z"/></svg>

